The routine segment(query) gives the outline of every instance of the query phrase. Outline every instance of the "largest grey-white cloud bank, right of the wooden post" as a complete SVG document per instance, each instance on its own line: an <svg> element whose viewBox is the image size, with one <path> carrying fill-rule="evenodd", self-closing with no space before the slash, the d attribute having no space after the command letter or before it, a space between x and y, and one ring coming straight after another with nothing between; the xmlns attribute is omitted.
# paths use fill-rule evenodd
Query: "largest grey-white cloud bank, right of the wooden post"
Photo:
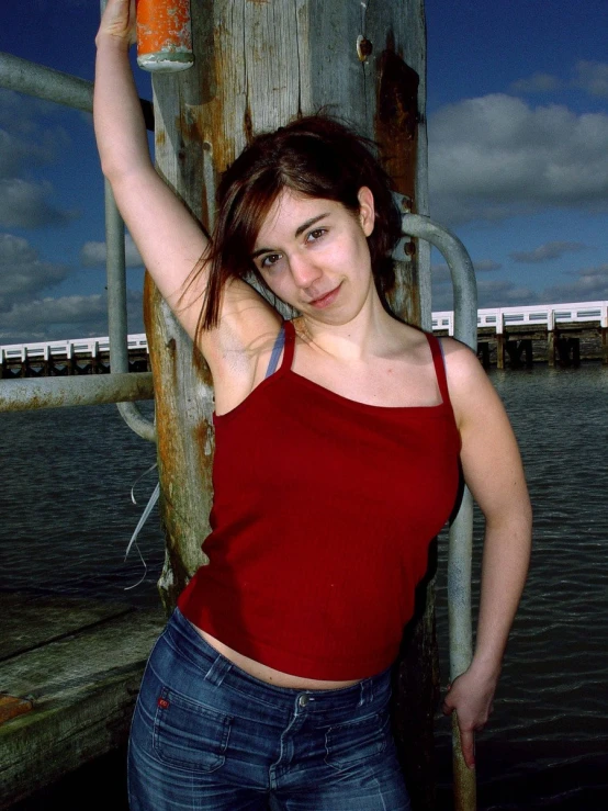
<svg viewBox="0 0 608 811"><path fill-rule="evenodd" d="M429 121L434 217L498 221L547 206L608 210L608 115L496 93Z"/></svg>

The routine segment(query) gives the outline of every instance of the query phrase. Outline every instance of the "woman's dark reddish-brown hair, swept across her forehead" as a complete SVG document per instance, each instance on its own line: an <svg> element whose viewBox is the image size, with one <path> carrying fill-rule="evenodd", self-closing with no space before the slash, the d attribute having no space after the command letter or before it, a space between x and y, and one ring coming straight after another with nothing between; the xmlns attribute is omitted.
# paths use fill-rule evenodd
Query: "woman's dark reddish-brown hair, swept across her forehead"
<svg viewBox="0 0 608 811"><path fill-rule="evenodd" d="M210 266L196 331L217 325L222 291L228 279L251 272L262 282L251 254L273 202L283 189L333 200L353 214L367 185L374 199L375 223L368 237L376 290L385 304L395 283L391 251L401 236L401 216L392 183L372 154L374 144L326 115L299 119L257 136L226 170L217 189L217 217L203 262Z"/></svg>

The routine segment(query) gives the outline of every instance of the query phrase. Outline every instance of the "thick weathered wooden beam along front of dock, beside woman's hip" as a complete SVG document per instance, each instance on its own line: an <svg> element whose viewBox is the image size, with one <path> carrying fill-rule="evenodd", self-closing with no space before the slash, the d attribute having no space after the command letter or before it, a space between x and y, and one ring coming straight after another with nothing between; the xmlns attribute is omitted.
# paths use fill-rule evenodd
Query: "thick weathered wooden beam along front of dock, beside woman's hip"
<svg viewBox="0 0 608 811"><path fill-rule="evenodd" d="M164 623L160 611L122 612L0 663L2 689L33 702L0 725L0 808L125 743Z"/></svg>

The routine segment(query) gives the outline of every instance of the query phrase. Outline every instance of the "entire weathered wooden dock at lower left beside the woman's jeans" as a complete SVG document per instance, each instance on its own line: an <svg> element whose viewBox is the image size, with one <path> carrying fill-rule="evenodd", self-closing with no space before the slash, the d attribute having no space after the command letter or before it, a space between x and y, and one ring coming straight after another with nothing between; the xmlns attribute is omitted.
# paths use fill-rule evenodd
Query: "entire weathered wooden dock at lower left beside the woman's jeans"
<svg viewBox="0 0 608 811"><path fill-rule="evenodd" d="M0 594L0 809L125 743L160 609Z"/></svg>

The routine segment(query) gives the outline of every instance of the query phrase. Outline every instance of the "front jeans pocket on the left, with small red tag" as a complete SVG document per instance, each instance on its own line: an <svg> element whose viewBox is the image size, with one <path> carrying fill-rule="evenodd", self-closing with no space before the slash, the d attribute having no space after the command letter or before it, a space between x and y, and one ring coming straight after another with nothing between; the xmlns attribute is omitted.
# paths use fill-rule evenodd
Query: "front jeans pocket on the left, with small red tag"
<svg viewBox="0 0 608 811"><path fill-rule="evenodd" d="M233 719L164 688L154 720L154 751L162 763L189 771L224 765Z"/></svg>

